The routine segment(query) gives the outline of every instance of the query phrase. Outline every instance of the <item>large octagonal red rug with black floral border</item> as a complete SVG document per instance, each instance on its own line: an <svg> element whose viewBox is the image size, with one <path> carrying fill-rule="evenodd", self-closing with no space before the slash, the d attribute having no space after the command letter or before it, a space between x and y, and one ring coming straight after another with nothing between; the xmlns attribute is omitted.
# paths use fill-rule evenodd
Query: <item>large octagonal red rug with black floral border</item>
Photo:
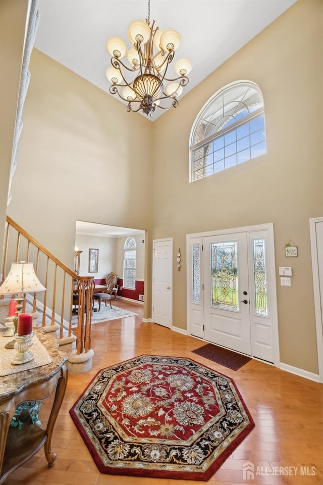
<svg viewBox="0 0 323 485"><path fill-rule="evenodd" d="M142 355L100 370L70 409L101 473L208 480L254 427L229 377Z"/></svg>

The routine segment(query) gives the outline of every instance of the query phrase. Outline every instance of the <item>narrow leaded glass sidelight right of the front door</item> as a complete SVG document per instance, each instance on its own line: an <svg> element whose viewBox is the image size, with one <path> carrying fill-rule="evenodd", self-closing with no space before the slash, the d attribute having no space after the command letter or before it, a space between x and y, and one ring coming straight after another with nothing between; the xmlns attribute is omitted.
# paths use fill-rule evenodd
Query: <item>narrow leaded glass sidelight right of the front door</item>
<svg viewBox="0 0 323 485"><path fill-rule="evenodd" d="M253 239L255 312L268 315L265 240Z"/></svg>

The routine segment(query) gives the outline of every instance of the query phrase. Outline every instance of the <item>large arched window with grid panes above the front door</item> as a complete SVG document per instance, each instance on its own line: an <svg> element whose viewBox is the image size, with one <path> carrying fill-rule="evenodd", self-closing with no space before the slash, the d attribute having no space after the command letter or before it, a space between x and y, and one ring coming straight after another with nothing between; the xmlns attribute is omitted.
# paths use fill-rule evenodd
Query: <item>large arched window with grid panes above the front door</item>
<svg viewBox="0 0 323 485"><path fill-rule="evenodd" d="M194 122L190 147L190 182L266 153L259 87L238 81L214 94Z"/></svg>

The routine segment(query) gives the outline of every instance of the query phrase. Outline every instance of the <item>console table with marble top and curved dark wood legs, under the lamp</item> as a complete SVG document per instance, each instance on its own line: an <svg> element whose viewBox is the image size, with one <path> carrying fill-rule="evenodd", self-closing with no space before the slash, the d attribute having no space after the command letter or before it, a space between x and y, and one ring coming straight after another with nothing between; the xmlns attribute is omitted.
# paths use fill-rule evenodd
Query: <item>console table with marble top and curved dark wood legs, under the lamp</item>
<svg viewBox="0 0 323 485"><path fill-rule="evenodd" d="M55 336L43 333L40 328L34 329L34 332L52 362L0 377L0 484L42 445L48 466L56 461L56 453L51 451L50 442L66 390L67 355L58 350ZM6 337L0 335L0 338ZM10 427L17 406L28 401L45 401L52 395L53 404L46 429L33 424L28 412L21 414L23 426L20 429Z"/></svg>

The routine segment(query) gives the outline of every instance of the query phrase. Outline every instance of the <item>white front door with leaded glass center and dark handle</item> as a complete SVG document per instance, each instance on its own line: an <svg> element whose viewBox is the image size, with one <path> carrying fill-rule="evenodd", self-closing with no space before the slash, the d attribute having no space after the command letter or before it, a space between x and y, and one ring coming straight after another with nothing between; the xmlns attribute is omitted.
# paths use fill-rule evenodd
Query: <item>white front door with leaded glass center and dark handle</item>
<svg viewBox="0 0 323 485"><path fill-rule="evenodd" d="M251 355L247 234L203 237L205 340Z"/></svg>

